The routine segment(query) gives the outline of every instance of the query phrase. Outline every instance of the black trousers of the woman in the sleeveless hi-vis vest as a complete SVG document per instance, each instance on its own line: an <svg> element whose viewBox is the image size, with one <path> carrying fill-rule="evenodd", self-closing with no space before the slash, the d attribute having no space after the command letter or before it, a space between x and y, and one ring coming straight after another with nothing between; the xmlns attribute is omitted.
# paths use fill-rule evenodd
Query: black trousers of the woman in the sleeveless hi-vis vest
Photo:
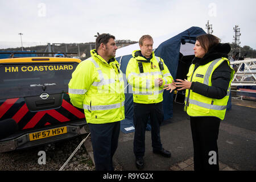
<svg viewBox="0 0 256 182"><path fill-rule="evenodd" d="M218 130L216 117L190 117L195 171L218 171Z"/></svg>

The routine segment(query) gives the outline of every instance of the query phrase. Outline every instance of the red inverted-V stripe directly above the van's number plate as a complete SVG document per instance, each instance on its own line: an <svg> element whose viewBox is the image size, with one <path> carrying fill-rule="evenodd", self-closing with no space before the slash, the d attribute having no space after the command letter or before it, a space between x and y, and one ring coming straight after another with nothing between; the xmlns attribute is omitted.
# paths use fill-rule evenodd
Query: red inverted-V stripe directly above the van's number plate
<svg viewBox="0 0 256 182"><path fill-rule="evenodd" d="M51 117L57 119L60 122L70 121L70 119L64 117L64 115L58 113L56 110L45 110L45 111L39 111L34 115L32 119L27 123L26 126L23 127L23 129L30 129L32 127L35 127L35 125L40 121L40 119L43 118L45 114L51 115Z"/></svg>

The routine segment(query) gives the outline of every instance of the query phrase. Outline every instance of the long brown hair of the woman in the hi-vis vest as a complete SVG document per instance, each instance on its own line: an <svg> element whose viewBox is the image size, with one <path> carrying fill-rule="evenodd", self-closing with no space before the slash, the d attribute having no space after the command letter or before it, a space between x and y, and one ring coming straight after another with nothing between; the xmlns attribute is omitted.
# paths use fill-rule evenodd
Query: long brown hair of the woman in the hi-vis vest
<svg viewBox="0 0 256 182"><path fill-rule="evenodd" d="M201 47L205 50L205 53L209 51L210 48L213 46L216 46L221 42L217 36L214 36L212 34L204 34L197 36L196 40L200 43Z"/></svg>

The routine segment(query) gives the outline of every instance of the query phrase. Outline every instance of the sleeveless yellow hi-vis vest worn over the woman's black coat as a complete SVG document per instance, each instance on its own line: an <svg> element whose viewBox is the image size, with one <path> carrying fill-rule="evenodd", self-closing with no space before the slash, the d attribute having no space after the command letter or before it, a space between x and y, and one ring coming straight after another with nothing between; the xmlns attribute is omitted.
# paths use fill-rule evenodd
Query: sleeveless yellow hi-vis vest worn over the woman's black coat
<svg viewBox="0 0 256 182"><path fill-rule="evenodd" d="M187 74L187 80L191 82L197 81L205 85L212 86L212 73L223 61L227 61L229 64L229 60L225 57L222 57L221 59L213 60L208 64L201 65L195 71L195 64L191 64ZM193 90L186 90L184 110L187 110L188 115L192 117L213 116L220 118L221 120L224 119L226 113L226 105L229 100L230 84L234 76L234 69L231 69L232 73L230 76L228 91L226 96L222 99L209 98L195 93Z"/></svg>

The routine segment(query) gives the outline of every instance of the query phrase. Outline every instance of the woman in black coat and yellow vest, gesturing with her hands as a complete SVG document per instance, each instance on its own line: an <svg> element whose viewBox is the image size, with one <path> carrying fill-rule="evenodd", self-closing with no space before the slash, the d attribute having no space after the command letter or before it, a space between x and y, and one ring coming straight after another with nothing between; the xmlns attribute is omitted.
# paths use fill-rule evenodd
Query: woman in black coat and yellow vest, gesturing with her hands
<svg viewBox="0 0 256 182"><path fill-rule="evenodd" d="M214 102L221 101L226 105L226 102L228 102L226 98L229 95L228 88L234 75L233 69L229 66L229 61L223 59L223 57L228 58L228 53L230 51L229 44L221 44L220 39L216 36L205 34L197 37L195 47L193 49L195 51L195 59L192 60L192 77L189 77L189 81L186 79L176 79L177 82L173 83L173 85L179 88L177 90L187 89L186 92L189 93L190 96L193 94L193 101L196 100L193 104L199 103L201 102L201 98L207 97ZM196 72L196 69L202 69L203 67L204 69L205 67L209 68L209 63L213 63L213 60L217 59L223 61L220 61L220 65L213 69L213 72L211 73L212 75L210 75L211 83L204 84L203 82L195 81L195 77L204 78L206 75L193 75L193 73ZM199 78L197 78L197 80L198 79ZM171 85L169 84L166 86L167 87L165 89L170 90ZM191 106L192 102L189 103L189 94L186 94L187 102L185 104L185 110L189 106L191 107L189 108L189 111L187 110L187 113L190 115L191 121L194 148L194 169L195 171L218 170L218 130L220 127L220 121L225 116L225 109L222 111L222 117L220 117L220 114L215 114L214 112L212 112L212 115L209 113L208 115L200 114L200 109L192 109L194 107Z"/></svg>

